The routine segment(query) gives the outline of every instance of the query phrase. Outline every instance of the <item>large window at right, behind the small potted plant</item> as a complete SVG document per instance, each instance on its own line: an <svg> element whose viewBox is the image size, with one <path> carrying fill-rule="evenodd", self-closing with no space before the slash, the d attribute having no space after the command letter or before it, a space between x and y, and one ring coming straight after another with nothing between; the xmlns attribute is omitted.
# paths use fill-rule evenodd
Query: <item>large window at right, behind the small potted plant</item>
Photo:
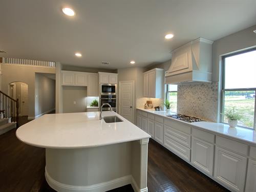
<svg viewBox="0 0 256 192"><path fill-rule="evenodd" d="M256 50L225 56L222 62L222 122L235 108L241 115L238 125L255 129Z"/></svg>

